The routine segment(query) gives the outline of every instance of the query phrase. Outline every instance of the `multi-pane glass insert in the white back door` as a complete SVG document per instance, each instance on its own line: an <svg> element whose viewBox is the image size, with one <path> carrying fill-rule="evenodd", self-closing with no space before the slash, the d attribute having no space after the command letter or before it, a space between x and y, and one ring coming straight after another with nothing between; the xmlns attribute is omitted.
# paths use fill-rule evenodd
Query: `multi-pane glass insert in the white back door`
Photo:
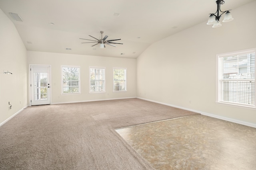
<svg viewBox="0 0 256 170"><path fill-rule="evenodd" d="M47 73L34 73L34 100L47 100Z"/></svg>

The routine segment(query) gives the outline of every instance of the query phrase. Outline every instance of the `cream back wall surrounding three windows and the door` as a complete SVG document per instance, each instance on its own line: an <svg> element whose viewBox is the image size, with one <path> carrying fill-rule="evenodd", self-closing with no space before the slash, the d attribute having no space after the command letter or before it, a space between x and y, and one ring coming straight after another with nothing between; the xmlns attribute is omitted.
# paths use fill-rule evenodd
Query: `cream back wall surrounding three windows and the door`
<svg viewBox="0 0 256 170"><path fill-rule="evenodd" d="M51 65L52 104L136 97L136 59L27 51L29 64ZM81 94L61 94L61 66L80 66ZM89 67L106 68L106 93L89 93ZM113 92L113 67L127 68L127 92ZM29 92L28 92L29 93Z"/></svg>

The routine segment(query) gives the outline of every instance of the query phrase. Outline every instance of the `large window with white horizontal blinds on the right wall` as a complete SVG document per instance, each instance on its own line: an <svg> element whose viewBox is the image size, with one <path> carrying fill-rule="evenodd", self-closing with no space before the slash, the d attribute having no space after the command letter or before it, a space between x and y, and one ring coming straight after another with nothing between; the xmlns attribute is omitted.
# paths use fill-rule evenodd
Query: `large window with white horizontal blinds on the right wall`
<svg viewBox="0 0 256 170"><path fill-rule="evenodd" d="M255 107L255 50L217 55L218 102Z"/></svg>

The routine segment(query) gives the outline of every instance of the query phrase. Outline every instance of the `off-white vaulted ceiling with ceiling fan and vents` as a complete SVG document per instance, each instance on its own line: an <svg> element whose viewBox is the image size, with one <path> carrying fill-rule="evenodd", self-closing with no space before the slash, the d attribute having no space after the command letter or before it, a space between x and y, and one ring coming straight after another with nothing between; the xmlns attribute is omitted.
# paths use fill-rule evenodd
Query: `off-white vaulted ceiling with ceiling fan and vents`
<svg viewBox="0 0 256 170"><path fill-rule="evenodd" d="M29 51L137 58L150 44L207 22L208 14L217 10L215 1L0 0L0 8L13 21ZM252 1L225 0L221 9L232 10ZM10 12L24 21L15 21ZM108 39L120 38L114 42L124 44L100 49L99 45L91 47L94 43L82 44L90 41L79 39L93 39L88 35L100 39L100 31Z"/></svg>

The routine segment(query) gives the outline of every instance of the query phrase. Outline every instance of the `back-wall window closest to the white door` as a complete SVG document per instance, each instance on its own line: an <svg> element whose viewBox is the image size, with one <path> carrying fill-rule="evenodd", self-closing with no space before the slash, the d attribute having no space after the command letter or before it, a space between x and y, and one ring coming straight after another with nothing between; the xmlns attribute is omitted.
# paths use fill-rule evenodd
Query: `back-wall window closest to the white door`
<svg viewBox="0 0 256 170"><path fill-rule="evenodd" d="M62 66L62 94L80 93L80 67Z"/></svg>

